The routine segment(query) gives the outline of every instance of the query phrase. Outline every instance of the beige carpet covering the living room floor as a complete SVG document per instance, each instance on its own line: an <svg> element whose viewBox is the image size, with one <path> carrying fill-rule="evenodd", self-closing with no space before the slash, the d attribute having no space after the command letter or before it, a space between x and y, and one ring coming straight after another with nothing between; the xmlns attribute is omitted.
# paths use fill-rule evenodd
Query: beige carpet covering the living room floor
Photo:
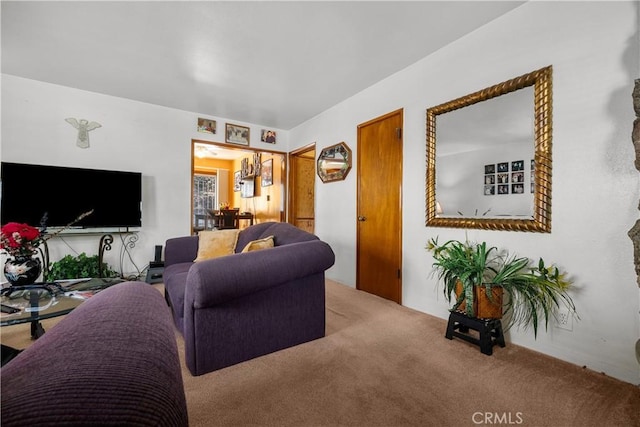
<svg viewBox="0 0 640 427"><path fill-rule="evenodd" d="M485 356L445 328L327 281L325 338L193 377L177 334L190 424L640 426L639 387L509 343Z"/></svg>

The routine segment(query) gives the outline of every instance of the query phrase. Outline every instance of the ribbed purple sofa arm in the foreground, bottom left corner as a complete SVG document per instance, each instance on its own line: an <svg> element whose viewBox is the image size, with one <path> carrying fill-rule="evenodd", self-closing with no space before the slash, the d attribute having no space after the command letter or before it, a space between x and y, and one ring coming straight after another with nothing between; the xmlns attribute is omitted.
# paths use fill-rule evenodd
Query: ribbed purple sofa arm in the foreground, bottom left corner
<svg viewBox="0 0 640 427"><path fill-rule="evenodd" d="M187 426L175 327L160 292L113 285L0 370L2 426Z"/></svg>

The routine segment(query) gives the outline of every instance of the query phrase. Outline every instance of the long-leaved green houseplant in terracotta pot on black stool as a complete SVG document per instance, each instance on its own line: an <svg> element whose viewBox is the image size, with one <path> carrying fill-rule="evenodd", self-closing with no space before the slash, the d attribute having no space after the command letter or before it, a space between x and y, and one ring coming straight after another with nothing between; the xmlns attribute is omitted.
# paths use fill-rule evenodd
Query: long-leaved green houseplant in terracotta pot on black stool
<svg viewBox="0 0 640 427"><path fill-rule="evenodd" d="M539 324L544 320L548 327L561 305L576 314L568 294L571 282L557 267L547 267L542 258L534 263L486 242L449 240L439 244L437 238L431 239L426 249L433 255L433 269L444 285L447 301L454 300L452 311L463 310L476 317L478 300L486 296L504 315L505 328L533 327L536 337Z"/></svg>

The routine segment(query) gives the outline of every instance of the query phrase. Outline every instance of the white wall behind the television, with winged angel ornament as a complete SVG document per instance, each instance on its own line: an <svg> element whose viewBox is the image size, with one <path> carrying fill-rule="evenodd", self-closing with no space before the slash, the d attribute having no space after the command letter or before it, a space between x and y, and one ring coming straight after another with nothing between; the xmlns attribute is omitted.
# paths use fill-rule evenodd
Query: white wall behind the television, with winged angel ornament
<svg viewBox="0 0 640 427"><path fill-rule="evenodd" d="M65 118L97 121L91 146L76 146L77 131ZM215 135L197 132L197 118L217 120ZM278 145L260 141L266 126L233 121L251 128L251 147L287 151L288 132L275 129ZM68 87L2 75L3 161L50 164L142 173L142 228L135 248L120 263L122 244L117 235L105 260L126 274L144 269L154 246L190 232L191 139L224 142L225 119L135 102ZM46 185L46 183L43 183ZM52 189L77 191L81 189ZM105 195L118 208L118 189ZM100 236L67 236L49 243L51 260L86 252L96 254ZM4 261L4 259L3 259ZM144 276L142 277L144 280Z"/></svg>

